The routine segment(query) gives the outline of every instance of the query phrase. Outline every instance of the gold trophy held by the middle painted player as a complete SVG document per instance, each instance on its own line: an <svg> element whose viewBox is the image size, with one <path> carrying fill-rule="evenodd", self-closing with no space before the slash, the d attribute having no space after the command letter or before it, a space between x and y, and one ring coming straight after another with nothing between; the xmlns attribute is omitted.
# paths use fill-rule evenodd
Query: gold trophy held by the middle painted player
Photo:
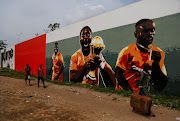
<svg viewBox="0 0 180 121"><path fill-rule="evenodd" d="M100 57L100 52L105 48L103 39L100 36L95 36L90 44L90 57L91 59L94 59L95 56ZM97 80L99 84L99 68L97 69L97 78L96 78L96 73L95 70L91 70L88 74L88 78L91 79L92 81Z"/></svg>

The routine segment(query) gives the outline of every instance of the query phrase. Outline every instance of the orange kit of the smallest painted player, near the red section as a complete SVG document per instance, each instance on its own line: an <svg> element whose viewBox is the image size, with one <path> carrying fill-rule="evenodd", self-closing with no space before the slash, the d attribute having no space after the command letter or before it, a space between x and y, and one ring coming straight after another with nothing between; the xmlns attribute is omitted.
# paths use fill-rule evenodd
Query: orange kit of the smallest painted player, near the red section
<svg viewBox="0 0 180 121"><path fill-rule="evenodd" d="M60 72L60 66L63 64L63 57L62 54L60 52L57 52L57 54L55 55L55 53L52 56L52 70L53 70L53 74L52 74L52 80L55 79L55 77L58 75L58 73ZM63 79L63 73L60 74L58 81L62 82Z"/></svg>

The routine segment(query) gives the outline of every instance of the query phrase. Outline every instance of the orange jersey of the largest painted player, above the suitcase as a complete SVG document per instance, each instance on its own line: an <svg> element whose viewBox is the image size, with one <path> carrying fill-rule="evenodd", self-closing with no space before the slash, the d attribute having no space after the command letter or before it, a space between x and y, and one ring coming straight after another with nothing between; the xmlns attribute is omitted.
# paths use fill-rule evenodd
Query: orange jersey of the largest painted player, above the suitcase
<svg viewBox="0 0 180 121"><path fill-rule="evenodd" d="M160 69L165 75L167 75L166 68L164 66L164 52L154 45L152 46L151 50L160 52L160 54L161 54L161 60L159 62ZM141 52L137 48L136 43L135 43L135 44L129 45L121 50L121 52L119 53L117 62L116 62L116 66L125 70L124 77L128 81L132 90L134 92L139 92L139 88L137 88L135 86L138 83L138 80L140 78L140 72L132 71L131 64L133 63L133 64L135 64L136 67L143 69L144 63L148 63L149 66L152 67L153 61L154 60L152 60L150 57L150 53L149 52L147 52L147 53Z"/></svg>

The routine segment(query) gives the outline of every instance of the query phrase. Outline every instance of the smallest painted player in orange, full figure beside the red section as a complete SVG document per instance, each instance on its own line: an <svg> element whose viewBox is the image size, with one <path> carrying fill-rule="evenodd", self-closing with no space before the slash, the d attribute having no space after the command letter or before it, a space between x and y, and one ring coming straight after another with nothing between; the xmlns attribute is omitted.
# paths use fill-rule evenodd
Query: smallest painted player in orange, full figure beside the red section
<svg viewBox="0 0 180 121"><path fill-rule="evenodd" d="M52 80L63 81L63 56L58 52L58 43L54 44L54 54L52 55Z"/></svg>

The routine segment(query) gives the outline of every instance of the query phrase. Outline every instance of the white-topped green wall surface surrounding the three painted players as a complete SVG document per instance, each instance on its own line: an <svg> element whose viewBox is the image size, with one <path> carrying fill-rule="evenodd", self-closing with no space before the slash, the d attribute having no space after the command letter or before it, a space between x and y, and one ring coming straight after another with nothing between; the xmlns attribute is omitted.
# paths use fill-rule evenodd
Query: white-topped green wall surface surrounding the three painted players
<svg viewBox="0 0 180 121"><path fill-rule="evenodd" d="M166 54L165 65L169 82L164 91L180 95L177 86L180 84L180 71L178 66L173 65L178 64L177 60L180 58L180 31L177 30L180 27L179 6L178 0L143 0L50 32L46 35L46 70L50 68L53 45L57 41L65 62L64 81L69 80L70 58L80 48L79 32L86 25L91 27L93 37L98 35L103 38L106 45L103 55L114 69L121 49L136 42L133 34L135 23L142 18L150 18L156 23L153 44Z"/></svg>

